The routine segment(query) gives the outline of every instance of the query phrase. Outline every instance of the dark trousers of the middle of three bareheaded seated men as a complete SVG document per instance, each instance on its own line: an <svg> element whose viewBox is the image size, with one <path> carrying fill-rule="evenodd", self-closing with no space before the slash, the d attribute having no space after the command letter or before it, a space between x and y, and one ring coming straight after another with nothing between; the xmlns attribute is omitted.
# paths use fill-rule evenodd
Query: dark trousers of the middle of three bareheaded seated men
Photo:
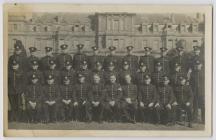
<svg viewBox="0 0 216 140"><path fill-rule="evenodd" d="M104 106L106 120L108 121L120 121L122 109L121 103L115 102L114 106L111 106L109 102L105 103Z"/></svg>

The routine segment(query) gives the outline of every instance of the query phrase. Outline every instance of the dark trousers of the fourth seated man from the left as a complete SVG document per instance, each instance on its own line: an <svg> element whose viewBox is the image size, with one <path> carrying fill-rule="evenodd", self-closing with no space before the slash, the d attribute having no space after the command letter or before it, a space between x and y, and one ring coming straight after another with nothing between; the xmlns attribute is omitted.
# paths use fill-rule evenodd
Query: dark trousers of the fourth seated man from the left
<svg viewBox="0 0 216 140"><path fill-rule="evenodd" d="M75 120L79 121L91 121L92 120L92 106L91 103L86 101L80 101L77 106L74 106Z"/></svg>

